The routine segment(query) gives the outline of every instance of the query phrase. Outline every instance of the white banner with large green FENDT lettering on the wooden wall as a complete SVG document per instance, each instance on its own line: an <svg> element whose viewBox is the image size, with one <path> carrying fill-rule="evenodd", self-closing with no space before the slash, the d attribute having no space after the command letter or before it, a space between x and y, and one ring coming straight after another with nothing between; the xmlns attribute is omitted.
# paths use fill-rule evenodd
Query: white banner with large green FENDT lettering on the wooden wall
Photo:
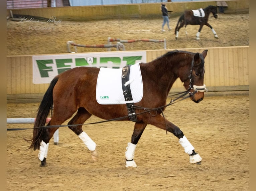
<svg viewBox="0 0 256 191"><path fill-rule="evenodd" d="M58 74L75 67L123 68L137 62L146 63L146 51L35 55L33 84L48 84Z"/></svg>

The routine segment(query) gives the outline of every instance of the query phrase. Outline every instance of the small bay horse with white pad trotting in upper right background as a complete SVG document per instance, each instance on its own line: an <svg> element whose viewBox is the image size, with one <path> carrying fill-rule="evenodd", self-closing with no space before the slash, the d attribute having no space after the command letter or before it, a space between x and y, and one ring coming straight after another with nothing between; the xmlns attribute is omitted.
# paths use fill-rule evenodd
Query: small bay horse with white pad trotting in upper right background
<svg viewBox="0 0 256 191"><path fill-rule="evenodd" d="M194 16L194 11L198 11L200 14L205 14L204 17L200 16ZM203 13L204 12L204 13ZM175 38L176 40L178 39L179 36L179 29L182 28L185 25L185 28L187 25L200 25L200 28L196 34L196 40L200 40L200 32L203 28L204 25L208 26L211 28L214 37L218 39L218 35L216 34L215 30L213 27L208 23L208 18L210 13L213 14L214 18L217 19L217 6L210 5L204 9L198 9L198 10L185 10L184 13L180 16L177 26L175 28L174 34L176 35ZM199 15L200 15L199 14ZM187 37L187 32L186 32L186 37Z"/></svg>

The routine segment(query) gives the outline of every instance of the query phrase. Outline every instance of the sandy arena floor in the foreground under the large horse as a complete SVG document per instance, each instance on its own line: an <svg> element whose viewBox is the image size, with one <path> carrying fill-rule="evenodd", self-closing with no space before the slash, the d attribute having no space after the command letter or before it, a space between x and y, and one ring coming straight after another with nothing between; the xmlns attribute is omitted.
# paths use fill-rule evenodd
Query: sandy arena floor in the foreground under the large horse
<svg viewBox="0 0 256 191"><path fill-rule="evenodd" d="M38 105L8 103L7 117L35 117ZM167 107L164 115L193 144L201 165L189 163L173 134L151 125L136 147L137 168L125 167L133 122L84 126L98 145L98 162L73 131L61 127L59 144L50 141L46 167L40 167L38 151L27 150L22 139L30 138L32 129L7 131L7 190L249 190L249 94L206 93L200 103L185 99ZM96 121L101 119L92 116L87 123ZM33 124L7 124L17 127Z"/></svg>

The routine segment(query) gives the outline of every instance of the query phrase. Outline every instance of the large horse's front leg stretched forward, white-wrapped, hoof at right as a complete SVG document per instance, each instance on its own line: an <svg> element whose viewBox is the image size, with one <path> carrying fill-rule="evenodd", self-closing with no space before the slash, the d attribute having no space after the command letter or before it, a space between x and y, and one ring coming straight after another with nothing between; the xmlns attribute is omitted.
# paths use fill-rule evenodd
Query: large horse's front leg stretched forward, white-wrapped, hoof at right
<svg viewBox="0 0 256 191"><path fill-rule="evenodd" d="M179 143L184 148L185 153L189 155L189 162L190 163L200 163L202 161L201 156L195 152L195 148L193 145L187 140L186 136L183 134L183 132L168 121L167 119L163 118L161 115L157 115L153 117L154 120L150 122L150 124L155 125L156 127L159 127L161 129L167 130L174 134L179 139Z"/></svg>

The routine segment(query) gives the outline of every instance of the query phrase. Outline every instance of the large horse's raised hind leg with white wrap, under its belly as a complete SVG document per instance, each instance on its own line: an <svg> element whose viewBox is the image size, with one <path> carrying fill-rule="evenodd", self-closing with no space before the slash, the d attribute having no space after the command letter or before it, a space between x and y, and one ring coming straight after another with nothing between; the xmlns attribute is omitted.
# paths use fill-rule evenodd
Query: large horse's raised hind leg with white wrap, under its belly
<svg viewBox="0 0 256 191"><path fill-rule="evenodd" d="M68 122L69 128L74 131L79 138L84 142L87 148L91 151L93 160L98 160L97 145L96 143L88 136L88 134L82 130L82 125L87 119L92 116L85 108L80 107L76 115Z"/></svg>

